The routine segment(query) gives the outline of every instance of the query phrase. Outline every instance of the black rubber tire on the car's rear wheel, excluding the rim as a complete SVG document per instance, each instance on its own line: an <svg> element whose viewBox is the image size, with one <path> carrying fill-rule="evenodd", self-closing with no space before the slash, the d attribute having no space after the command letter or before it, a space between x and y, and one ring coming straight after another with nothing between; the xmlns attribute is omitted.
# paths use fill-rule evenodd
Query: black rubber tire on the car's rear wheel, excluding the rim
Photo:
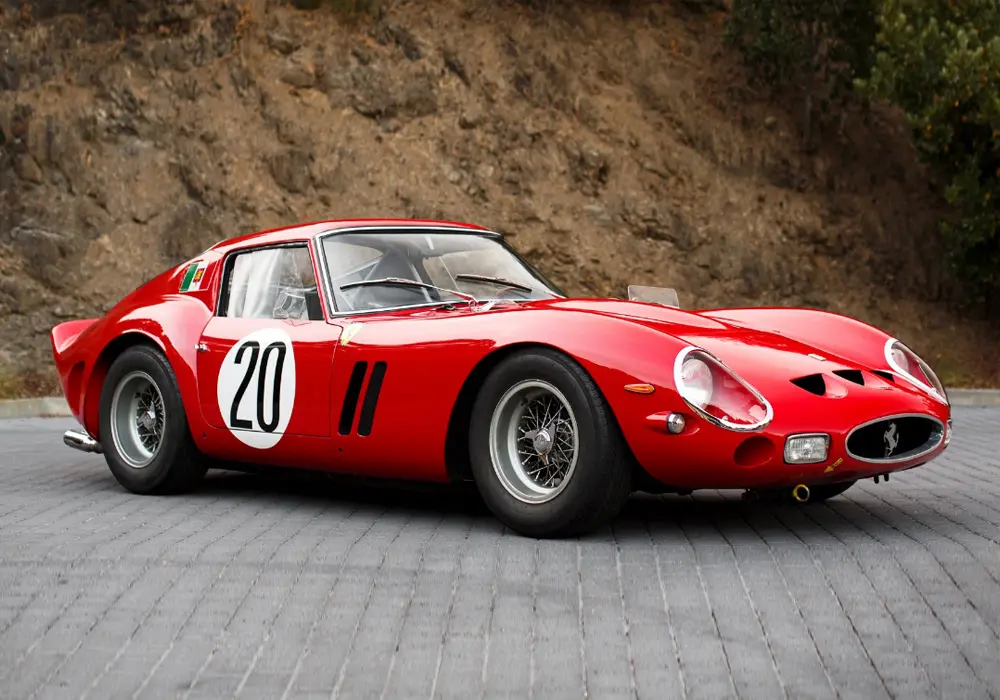
<svg viewBox="0 0 1000 700"><path fill-rule="evenodd" d="M133 377L133 381L148 380L154 385L164 409L159 446L152 451L148 463L141 467L130 463L127 456L129 447L123 447L132 444L126 442L130 438L118 440L112 429L115 392L119 384L129 377ZM177 378L159 349L134 345L111 364L101 390L100 429L108 468L118 483L133 493L180 493L194 487L205 475L205 460L191 436Z"/></svg>

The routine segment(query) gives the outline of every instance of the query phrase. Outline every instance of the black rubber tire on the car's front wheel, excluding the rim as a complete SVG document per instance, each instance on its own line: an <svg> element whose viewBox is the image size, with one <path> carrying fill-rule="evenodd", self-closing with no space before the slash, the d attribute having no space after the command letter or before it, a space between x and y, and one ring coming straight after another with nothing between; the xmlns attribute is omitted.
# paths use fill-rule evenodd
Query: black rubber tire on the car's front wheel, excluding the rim
<svg viewBox="0 0 1000 700"><path fill-rule="evenodd" d="M541 503L511 493L494 468L491 450L494 411L508 390L524 381L555 387L577 425L575 467L562 490ZM627 447L611 409L587 372L556 351L521 351L494 368L473 406L469 445L473 477L486 505L524 535L569 537L594 530L618 513L632 491Z"/></svg>

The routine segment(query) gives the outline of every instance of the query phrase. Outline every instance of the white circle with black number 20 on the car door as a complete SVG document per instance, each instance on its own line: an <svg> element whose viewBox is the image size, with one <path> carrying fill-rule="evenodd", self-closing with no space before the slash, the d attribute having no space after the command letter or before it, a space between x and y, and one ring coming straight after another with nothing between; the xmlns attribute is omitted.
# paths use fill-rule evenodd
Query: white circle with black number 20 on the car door
<svg viewBox="0 0 1000 700"><path fill-rule="evenodd" d="M295 404L292 339L278 328L240 338L219 368L219 410L240 442L266 450L278 444Z"/></svg>

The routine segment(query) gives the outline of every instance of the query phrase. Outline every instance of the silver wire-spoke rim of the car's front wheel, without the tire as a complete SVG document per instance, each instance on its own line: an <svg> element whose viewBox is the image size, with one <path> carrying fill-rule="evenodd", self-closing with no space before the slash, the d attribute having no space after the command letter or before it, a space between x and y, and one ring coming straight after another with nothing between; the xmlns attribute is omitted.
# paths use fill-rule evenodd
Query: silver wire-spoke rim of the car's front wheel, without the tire
<svg viewBox="0 0 1000 700"><path fill-rule="evenodd" d="M490 422L490 456L500 483L524 503L558 496L576 469L580 437L569 401L540 380L518 382Z"/></svg>

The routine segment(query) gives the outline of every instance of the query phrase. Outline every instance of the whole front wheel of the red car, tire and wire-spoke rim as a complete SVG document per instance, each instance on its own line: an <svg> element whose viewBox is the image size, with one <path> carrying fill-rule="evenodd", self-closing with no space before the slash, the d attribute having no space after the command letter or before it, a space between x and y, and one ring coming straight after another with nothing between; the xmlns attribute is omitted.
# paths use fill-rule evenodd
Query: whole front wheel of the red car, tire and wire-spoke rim
<svg viewBox="0 0 1000 700"><path fill-rule="evenodd" d="M469 444L483 500L525 535L592 530L631 491L611 410L583 368L558 352L519 352L493 370L473 407Z"/></svg>

